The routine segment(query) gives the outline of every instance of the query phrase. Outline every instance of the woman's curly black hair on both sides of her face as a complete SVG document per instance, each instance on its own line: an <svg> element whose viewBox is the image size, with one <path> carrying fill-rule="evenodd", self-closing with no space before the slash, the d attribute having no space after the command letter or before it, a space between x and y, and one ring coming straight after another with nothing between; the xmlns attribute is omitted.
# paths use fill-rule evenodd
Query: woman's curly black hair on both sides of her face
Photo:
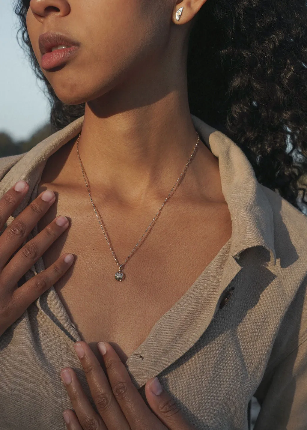
<svg viewBox="0 0 307 430"><path fill-rule="evenodd" d="M84 114L62 103L34 55L30 0L15 0L20 43L46 84L53 130ZM307 202L306 0L207 0L190 31L190 112L243 150L258 181L305 212ZM305 212L306 213L306 212Z"/></svg>

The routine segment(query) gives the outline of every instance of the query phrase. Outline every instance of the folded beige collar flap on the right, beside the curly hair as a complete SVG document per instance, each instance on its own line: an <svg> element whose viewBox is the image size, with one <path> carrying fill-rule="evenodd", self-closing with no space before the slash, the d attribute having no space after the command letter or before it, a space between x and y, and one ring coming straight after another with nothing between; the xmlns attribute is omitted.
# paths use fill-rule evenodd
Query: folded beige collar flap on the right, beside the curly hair
<svg viewBox="0 0 307 430"><path fill-rule="evenodd" d="M218 157L222 191L232 221L230 255L237 259L245 249L263 246L275 265L272 207L251 163L224 133L193 115L192 120L203 142Z"/></svg>

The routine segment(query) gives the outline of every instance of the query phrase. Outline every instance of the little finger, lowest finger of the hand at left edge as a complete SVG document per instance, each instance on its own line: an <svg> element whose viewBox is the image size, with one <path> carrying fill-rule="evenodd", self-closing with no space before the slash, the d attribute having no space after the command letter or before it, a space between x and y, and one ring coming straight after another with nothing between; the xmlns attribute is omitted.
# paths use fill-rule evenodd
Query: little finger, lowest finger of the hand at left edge
<svg viewBox="0 0 307 430"><path fill-rule="evenodd" d="M48 269L33 276L21 287L13 291L12 297L6 306L6 313L5 315L3 314L6 328L15 322L34 300L58 281L71 267L73 261L74 256L72 254L61 255Z"/></svg>

